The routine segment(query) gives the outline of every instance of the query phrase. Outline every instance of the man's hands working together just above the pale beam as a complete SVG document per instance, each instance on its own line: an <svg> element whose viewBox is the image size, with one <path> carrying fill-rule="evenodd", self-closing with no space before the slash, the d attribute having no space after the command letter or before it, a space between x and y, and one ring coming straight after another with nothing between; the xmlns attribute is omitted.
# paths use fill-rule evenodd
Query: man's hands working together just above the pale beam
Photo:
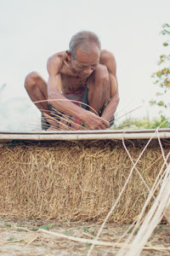
<svg viewBox="0 0 170 256"><path fill-rule="evenodd" d="M105 130L110 126L108 121L90 111L86 113L83 121L89 130Z"/></svg>

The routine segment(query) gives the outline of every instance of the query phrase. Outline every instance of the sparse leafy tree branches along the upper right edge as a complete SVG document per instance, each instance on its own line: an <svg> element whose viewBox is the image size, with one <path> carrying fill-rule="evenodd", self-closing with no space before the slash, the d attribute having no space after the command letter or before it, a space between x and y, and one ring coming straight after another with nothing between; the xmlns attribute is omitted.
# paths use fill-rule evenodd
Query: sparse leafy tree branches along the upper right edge
<svg viewBox="0 0 170 256"><path fill-rule="evenodd" d="M168 37L170 36L170 25L165 23L162 26L161 35L167 38L167 41L163 43L164 47L170 45L170 40ZM170 55L163 54L159 57L158 65L161 67L156 73L152 74L153 83L159 87L159 92L156 93L156 96L162 98L165 96L167 90L170 89ZM150 101L150 105L157 105L161 108L169 108L170 103L165 102L164 99L152 100Z"/></svg>

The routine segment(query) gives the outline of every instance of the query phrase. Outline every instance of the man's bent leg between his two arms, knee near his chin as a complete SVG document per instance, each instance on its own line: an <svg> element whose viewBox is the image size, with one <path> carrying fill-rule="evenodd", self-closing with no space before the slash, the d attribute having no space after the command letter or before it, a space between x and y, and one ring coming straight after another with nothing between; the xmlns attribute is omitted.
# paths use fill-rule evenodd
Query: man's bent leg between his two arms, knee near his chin
<svg viewBox="0 0 170 256"><path fill-rule="evenodd" d="M99 65L88 81L88 104L97 113L100 113L101 109L109 101L110 96L110 76L108 70L104 65ZM92 109L89 110L93 111Z"/></svg>

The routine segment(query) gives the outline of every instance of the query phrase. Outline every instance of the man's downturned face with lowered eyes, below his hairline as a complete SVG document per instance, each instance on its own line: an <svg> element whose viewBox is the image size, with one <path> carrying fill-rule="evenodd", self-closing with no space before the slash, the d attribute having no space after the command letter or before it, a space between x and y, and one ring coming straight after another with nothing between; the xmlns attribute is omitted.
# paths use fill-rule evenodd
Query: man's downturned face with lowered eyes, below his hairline
<svg viewBox="0 0 170 256"><path fill-rule="evenodd" d="M90 53L86 54L77 48L76 59L71 58L71 65L75 73L82 78L88 78L99 64L100 50L97 45L90 49Z"/></svg>

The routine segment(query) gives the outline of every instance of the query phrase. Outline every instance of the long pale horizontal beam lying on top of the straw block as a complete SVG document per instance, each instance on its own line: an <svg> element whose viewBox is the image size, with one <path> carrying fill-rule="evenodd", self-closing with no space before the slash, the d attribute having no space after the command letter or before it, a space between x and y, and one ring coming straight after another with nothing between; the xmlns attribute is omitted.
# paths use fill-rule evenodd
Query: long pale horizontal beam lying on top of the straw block
<svg viewBox="0 0 170 256"><path fill-rule="evenodd" d="M96 131L30 131L13 132L0 131L0 143L11 140L31 141L80 141L80 140L122 140L124 139L149 139L150 137L170 138L170 129L150 130L96 130Z"/></svg>

